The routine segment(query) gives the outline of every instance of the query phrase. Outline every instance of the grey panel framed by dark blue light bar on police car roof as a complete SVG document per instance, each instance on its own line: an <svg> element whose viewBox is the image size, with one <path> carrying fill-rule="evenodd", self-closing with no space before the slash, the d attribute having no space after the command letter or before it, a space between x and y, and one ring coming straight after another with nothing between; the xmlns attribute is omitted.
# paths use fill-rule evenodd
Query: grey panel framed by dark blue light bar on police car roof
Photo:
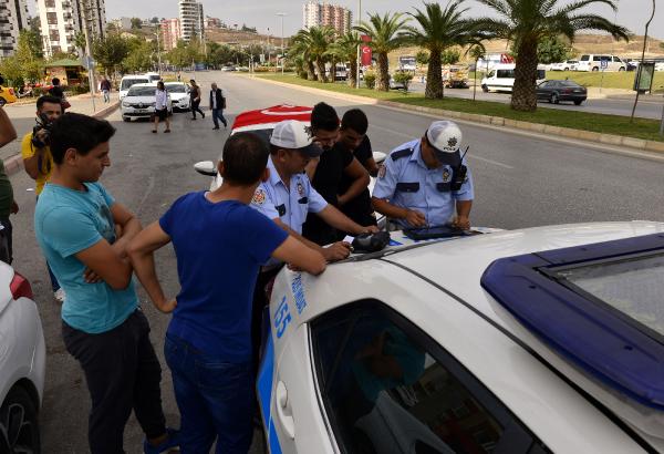
<svg viewBox="0 0 664 454"><path fill-rule="evenodd" d="M664 254L580 266L558 276L664 336Z"/></svg>

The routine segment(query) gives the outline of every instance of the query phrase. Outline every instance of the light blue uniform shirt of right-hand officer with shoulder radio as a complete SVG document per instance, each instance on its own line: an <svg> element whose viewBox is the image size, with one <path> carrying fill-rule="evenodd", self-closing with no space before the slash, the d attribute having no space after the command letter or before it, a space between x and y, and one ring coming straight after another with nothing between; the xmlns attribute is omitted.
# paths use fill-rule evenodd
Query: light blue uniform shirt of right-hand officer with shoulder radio
<svg viewBox="0 0 664 454"><path fill-rule="evenodd" d="M468 168L461 188L450 190L452 167L443 165L428 168L422 161L419 148L418 138L390 152L383 163L384 167L378 172L373 196L384 198L392 205L423 213L429 226L444 225L454 216L456 200L473 200L473 176ZM403 219L395 220L402 227L412 227Z"/></svg>

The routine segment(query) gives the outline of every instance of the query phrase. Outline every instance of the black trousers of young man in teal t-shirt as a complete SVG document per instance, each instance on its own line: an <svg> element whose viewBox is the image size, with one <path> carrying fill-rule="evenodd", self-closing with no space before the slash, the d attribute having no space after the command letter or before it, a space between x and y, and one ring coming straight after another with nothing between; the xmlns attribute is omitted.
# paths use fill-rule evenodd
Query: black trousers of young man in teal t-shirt
<svg viewBox="0 0 664 454"><path fill-rule="evenodd" d="M148 438L166 433L162 367L149 341L149 324L137 309L121 326L89 334L62 323L66 350L83 368L92 399L87 442L93 454L120 454L132 409Z"/></svg>

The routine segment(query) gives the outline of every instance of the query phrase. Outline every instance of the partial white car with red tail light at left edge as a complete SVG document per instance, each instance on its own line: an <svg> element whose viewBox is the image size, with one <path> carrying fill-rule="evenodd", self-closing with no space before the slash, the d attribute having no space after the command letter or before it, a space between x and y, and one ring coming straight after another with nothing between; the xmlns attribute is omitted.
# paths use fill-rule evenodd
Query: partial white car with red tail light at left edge
<svg viewBox="0 0 664 454"><path fill-rule="evenodd" d="M0 453L40 452L45 364L30 282L0 262Z"/></svg>

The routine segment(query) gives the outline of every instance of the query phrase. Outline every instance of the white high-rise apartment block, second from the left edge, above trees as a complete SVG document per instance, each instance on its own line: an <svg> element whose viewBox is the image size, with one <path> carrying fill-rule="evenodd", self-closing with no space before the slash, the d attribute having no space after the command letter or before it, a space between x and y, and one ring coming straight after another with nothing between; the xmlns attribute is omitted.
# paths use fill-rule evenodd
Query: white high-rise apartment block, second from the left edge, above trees
<svg viewBox="0 0 664 454"><path fill-rule="evenodd" d="M106 30L104 0L37 0L44 54L75 52L75 38L87 24L91 41Z"/></svg>

